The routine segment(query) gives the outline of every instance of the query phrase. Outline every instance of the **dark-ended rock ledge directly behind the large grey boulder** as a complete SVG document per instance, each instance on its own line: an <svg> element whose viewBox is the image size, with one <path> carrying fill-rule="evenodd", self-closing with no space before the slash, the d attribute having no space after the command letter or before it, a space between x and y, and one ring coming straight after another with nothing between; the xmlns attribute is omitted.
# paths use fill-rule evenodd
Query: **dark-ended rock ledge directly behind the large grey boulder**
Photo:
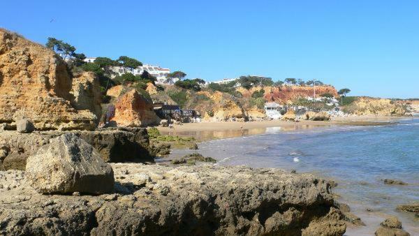
<svg viewBox="0 0 419 236"><path fill-rule="evenodd" d="M0 132L0 170L24 170L29 156L46 145L50 139L68 132L44 131L34 133ZM154 158L145 128L108 128L98 131L71 131L92 145L106 162L149 162Z"/></svg>

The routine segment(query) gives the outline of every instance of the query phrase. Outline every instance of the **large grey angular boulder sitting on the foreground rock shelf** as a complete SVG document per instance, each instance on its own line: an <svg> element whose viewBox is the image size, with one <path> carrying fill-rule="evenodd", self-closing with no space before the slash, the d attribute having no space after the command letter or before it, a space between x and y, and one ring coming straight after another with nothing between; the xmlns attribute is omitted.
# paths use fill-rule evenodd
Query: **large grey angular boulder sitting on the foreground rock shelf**
<svg viewBox="0 0 419 236"><path fill-rule="evenodd" d="M27 159L25 175L40 193L107 193L114 188L112 167L74 133L50 140Z"/></svg>

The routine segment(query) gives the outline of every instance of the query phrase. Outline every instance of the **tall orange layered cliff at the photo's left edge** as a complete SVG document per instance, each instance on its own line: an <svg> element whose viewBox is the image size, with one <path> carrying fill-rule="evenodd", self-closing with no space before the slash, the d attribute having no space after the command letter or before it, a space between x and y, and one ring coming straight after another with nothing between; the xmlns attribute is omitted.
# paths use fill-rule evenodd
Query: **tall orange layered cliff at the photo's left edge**
<svg viewBox="0 0 419 236"><path fill-rule="evenodd" d="M27 118L46 129L92 129L100 114L97 82L73 78L51 50L0 29L0 123Z"/></svg>

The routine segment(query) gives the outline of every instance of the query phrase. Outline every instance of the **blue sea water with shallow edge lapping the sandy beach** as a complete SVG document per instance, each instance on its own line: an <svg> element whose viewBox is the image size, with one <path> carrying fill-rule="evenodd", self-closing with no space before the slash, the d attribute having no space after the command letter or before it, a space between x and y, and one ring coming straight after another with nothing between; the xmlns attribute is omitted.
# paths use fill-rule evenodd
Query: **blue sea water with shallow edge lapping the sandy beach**
<svg viewBox="0 0 419 236"><path fill-rule="evenodd" d="M203 142L198 150L217 165L295 169L334 179L341 202L367 226L348 227L346 235L374 235L386 216L419 235L419 219L397 205L419 201L419 119L387 126L328 126L295 131L266 128L264 134ZM175 150L181 156L189 150ZM399 179L406 186L383 184ZM367 209L369 209L367 211Z"/></svg>

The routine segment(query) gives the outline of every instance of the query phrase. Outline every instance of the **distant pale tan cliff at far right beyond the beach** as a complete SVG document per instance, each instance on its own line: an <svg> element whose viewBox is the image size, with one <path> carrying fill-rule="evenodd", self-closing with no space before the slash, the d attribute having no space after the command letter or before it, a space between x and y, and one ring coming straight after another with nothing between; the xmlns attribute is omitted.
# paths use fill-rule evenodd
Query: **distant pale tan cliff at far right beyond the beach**
<svg viewBox="0 0 419 236"><path fill-rule="evenodd" d="M361 97L344 110L354 115L402 116L406 114L406 104L386 98Z"/></svg>

